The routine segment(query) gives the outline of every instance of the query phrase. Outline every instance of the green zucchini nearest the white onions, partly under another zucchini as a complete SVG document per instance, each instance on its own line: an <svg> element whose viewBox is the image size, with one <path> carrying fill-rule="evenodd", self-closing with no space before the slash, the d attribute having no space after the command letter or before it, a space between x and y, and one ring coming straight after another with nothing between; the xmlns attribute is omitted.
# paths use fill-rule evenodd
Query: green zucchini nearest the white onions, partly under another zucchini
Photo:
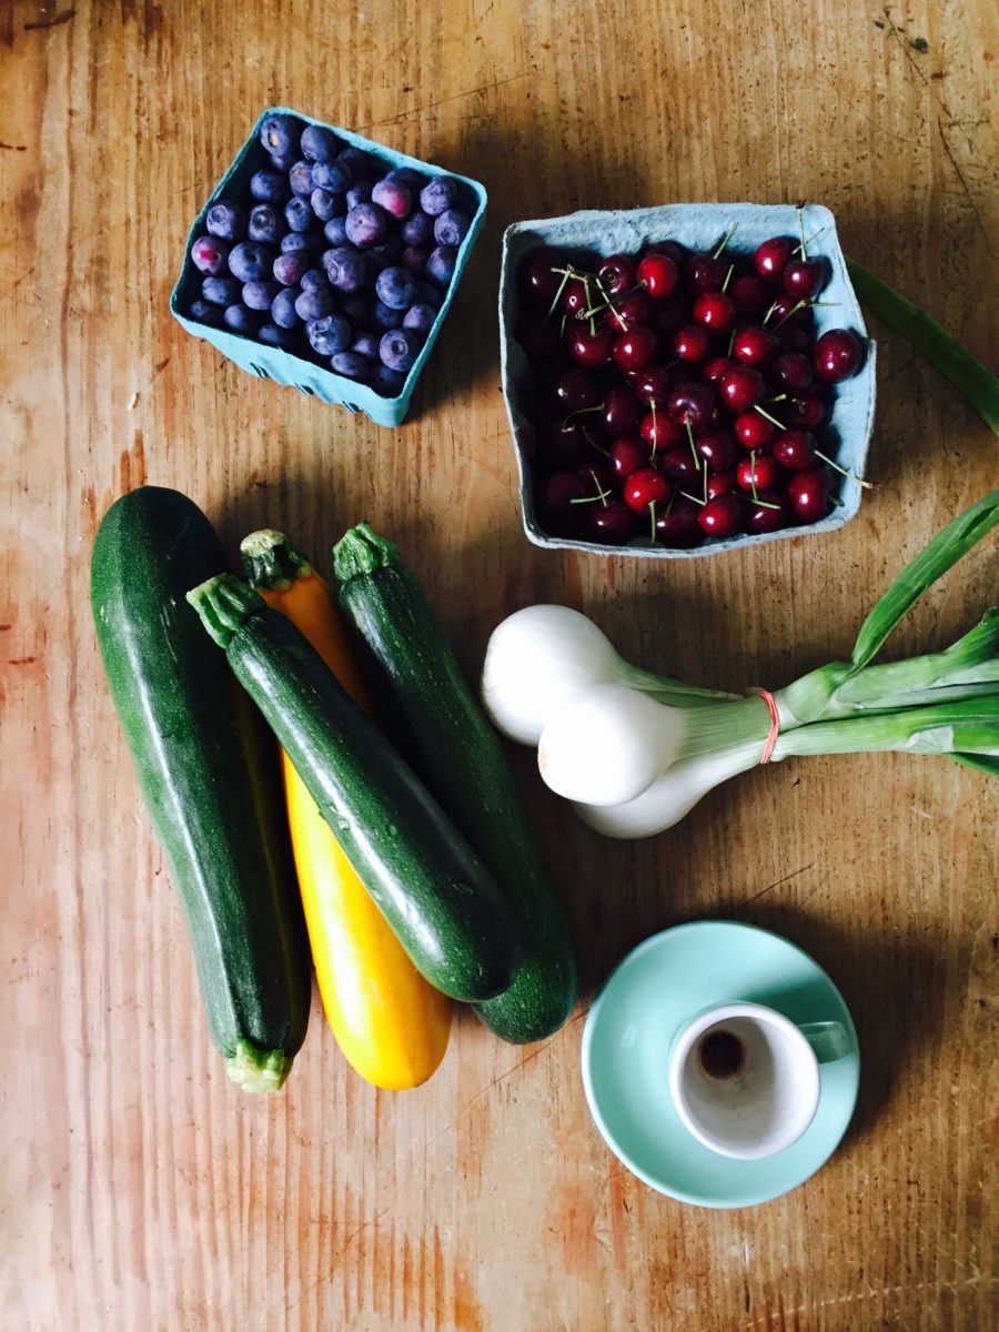
<svg viewBox="0 0 999 1332"><path fill-rule="evenodd" d="M381 669L417 771L493 872L523 960L502 995L477 1007L503 1040L551 1035L575 1003L569 924L500 739L454 659L416 575L368 523L333 550L340 605Z"/></svg>

